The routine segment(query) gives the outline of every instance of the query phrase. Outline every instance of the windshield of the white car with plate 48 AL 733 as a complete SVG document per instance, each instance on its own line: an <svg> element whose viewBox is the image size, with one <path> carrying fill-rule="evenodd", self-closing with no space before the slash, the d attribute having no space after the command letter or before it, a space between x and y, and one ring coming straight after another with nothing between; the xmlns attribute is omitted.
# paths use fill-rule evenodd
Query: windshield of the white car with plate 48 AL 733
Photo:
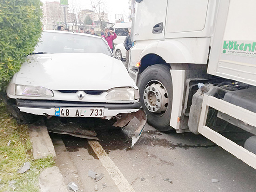
<svg viewBox="0 0 256 192"><path fill-rule="evenodd" d="M101 38L75 33L43 32L34 53L103 53L112 54Z"/></svg>

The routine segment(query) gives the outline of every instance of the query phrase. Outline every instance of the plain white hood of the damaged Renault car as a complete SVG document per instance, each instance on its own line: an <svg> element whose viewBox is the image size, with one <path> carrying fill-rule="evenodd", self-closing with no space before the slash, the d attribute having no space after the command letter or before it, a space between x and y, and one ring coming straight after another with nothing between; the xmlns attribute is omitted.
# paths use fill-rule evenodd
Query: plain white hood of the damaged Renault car
<svg viewBox="0 0 256 192"><path fill-rule="evenodd" d="M133 80L123 63L103 53L29 55L15 82L51 90L133 87Z"/></svg>

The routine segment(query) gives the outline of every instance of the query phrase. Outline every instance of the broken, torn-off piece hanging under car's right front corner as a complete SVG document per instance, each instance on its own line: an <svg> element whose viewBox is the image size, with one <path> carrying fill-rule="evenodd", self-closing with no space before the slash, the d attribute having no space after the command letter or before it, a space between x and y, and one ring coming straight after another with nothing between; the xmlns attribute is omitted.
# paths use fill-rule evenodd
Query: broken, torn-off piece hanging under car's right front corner
<svg viewBox="0 0 256 192"><path fill-rule="evenodd" d="M117 122L115 122L113 124L113 126L115 126L115 127L124 127L131 120L133 120L134 117L136 117L136 119L138 119L138 121L140 122L140 125L139 125L138 129L134 132L134 135L132 137L132 147L140 138L141 133L143 132L144 127L147 122L147 115L146 115L146 112L144 111L144 109L141 108L139 111L132 112L132 113L123 113L123 114L121 114L121 119L117 119Z"/></svg>

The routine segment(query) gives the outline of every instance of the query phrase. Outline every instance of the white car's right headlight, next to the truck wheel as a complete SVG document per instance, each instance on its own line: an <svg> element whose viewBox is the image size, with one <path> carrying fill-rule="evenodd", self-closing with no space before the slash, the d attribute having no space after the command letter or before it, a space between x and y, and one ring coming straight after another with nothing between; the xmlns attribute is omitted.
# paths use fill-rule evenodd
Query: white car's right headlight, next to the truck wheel
<svg viewBox="0 0 256 192"><path fill-rule="evenodd" d="M134 88L114 88L108 90L107 100L131 101L139 99L139 91Z"/></svg>

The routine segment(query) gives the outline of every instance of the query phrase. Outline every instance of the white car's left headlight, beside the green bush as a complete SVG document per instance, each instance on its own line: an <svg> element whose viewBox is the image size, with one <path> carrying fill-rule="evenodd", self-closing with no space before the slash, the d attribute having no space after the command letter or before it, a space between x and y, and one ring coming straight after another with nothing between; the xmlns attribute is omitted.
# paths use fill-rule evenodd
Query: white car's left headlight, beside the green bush
<svg viewBox="0 0 256 192"><path fill-rule="evenodd" d="M41 86L16 85L16 95L33 97L53 97L54 93Z"/></svg>

